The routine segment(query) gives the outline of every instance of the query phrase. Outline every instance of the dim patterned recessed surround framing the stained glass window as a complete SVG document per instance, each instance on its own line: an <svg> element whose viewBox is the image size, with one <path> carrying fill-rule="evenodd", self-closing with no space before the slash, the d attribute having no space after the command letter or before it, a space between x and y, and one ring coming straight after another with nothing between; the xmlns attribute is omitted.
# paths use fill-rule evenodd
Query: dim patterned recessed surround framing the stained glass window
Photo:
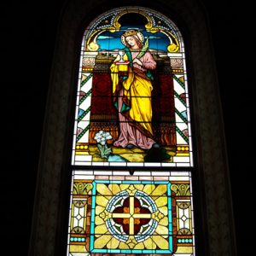
<svg viewBox="0 0 256 256"><path fill-rule="evenodd" d="M221 143L224 141L224 127L220 110L218 80L204 10L196 1L190 1L191 3L186 1L185 4L165 3L165 6L162 7L159 6L160 3L155 2L147 3L147 6L165 15L166 10L172 10L170 16L173 15L179 29L181 27L185 28L184 32L182 29L181 31L186 49L188 70L192 71L190 74L188 73L189 87L191 88L189 90L190 108L192 108L190 111L191 128L194 131L192 143L195 167L192 168L195 174L192 182L194 183L195 210L200 212L201 218L195 217L195 228L201 223L200 228L202 231L202 233L200 232L201 236L200 234L195 235L197 239L195 242L198 249L197 254L226 253L226 255L229 255L228 253L230 253L230 255L235 255L234 225L232 218L230 218L232 216L232 207L230 203L229 174L225 146ZM118 3L115 4L117 6ZM84 13L81 11L82 7L87 10L87 13L86 11ZM72 170L72 166L69 164L71 162L70 145L72 145L70 131L72 131L71 134L73 133L73 122L70 122L69 118L75 113L76 91L73 89L73 84L76 84L77 70L79 70L80 41L78 38L83 33L82 27L84 24L87 24L87 21L90 22L90 20L93 20L91 18L103 12L102 9L90 12L91 9L86 8L88 8L88 5L85 3L67 2L66 8L62 12L52 77L49 83L49 100L38 167L30 255L61 255L66 253L67 226L65 224L68 221L67 209L69 207L70 171ZM108 9L113 9L113 6L109 6ZM199 15L195 16L192 12L191 14L189 12L190 9L195 9ZM179 14L177 15L176 12ZM70 21L75 14L79 15L68 24L67 20ZM84 18L85 16L86 18ZM200 34L197 33L198 24L203 24ZM75 32L72 32L73 29L75 29ZM66 37L67 34L68 36L73 35L73 37ZM194 38L194 41L191 39L195 35L201 39L204 38L202 45L196 45L196 43L202 42L198 38ZM68 49L71 49L69 53L65 52L65 44L68 45ZM196 54L199 54L199 56ZM206 64L206 70L201 72L200 65L195 61L198 61L205 54L208 54L207 62L203 63L202 61L201 66ZM65 67L67 69L63 71ZM209 71L210 75L206 78L204 74ZM60 72L62 74L61 77ZM66 82L60 88L61 79L65 79ZM203 82L208 85L208 88L205 88L207 91L201 90L204 88ZM61 91L61 96L58 94L60 89L66 90L64 94ZM205 96L209 96L207 94L209 92L212 92L211 99L213 96L217 98L214 106L208 106L207 101L203 100ZM58 109L63 112L61 117L57 116ZM212 114L210 118L208 117L209 113ZM194 125L193 119L195 120ZM217 125L214 126L216 122ZM61 129L58 130L57 128L60 128L60 126ZM208 132L205 131L205 128L208 129ZM59 131L59 133L56 131ZM212 141L212 136L216 136L216 134L217 142L215 147L211 148L209 142ZM208 143L202 144L203 139L207 139ZM195 152L198 152L198 154L195 154ZM214 162L212 158L213 160L218 159L218 162ZM132 170L131 167L129 168ZM182 167L178 167L178 170L182 169ZM188 168L186 167L185 169L187 170ZM215 195L214 185L219 185L218 193L215 193ZM51 194L53 191L55 191L56 195ZM218 201L219 204L213 205L209 199ZM223 204L225 207L223 207ZM222 232L218 232L219 227L216 225L218 224L218 218L223 219ZM47 224L45 224L46 220L48 220ZM216 233L217 235L215 235ZM202 246L200 241L205 241ZM45 244L47 246L44 246ZM227 248L229 248L229 252L227 252Z"/></svg>

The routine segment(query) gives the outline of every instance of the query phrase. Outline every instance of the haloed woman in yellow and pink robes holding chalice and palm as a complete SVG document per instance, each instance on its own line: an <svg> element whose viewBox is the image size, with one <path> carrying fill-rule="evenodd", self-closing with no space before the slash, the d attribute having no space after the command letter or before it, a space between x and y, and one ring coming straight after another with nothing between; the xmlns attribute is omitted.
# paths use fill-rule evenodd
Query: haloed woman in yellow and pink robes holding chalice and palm
<svg viewBox="0 0 256 256"><path fill-rule="evenodd" d="M151 83L156 62L145 44L143 34L127 30L121 36L125 49L111 65L114 106L119 112L119 138L116 147L143 149L158 147L152 130Z"/></svg>

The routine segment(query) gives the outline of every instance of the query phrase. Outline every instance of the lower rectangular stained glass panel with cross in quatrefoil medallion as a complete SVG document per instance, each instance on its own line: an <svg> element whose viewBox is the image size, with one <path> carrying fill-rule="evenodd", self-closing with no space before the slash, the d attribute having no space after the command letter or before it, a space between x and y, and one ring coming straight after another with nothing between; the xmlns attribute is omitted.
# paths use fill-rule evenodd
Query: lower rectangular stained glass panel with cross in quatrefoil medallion
<svg viewBox="0 0 256 256"><path fill-rule="evenodd" d="M189 172L101 173L73 172L67 255L195 255Z"/></svg>

